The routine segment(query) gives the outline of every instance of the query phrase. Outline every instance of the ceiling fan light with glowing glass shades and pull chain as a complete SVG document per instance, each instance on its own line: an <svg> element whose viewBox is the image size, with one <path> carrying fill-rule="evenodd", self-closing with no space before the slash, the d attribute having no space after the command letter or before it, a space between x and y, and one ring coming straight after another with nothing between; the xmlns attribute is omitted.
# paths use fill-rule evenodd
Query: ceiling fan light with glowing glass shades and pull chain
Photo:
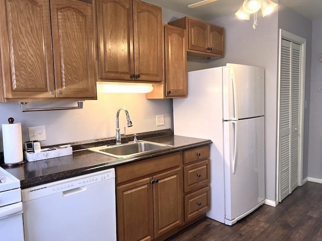
<svg viewBox="0 0 322 241"><path fill-rule="evenodd" d="M250 20L250 15L254 14L253 29L256 29L257 23L257 12L261 9L262 15L265 17L273 12L277 4L271 0L244 0L243 5L235 13L239 19Z"/></svg>

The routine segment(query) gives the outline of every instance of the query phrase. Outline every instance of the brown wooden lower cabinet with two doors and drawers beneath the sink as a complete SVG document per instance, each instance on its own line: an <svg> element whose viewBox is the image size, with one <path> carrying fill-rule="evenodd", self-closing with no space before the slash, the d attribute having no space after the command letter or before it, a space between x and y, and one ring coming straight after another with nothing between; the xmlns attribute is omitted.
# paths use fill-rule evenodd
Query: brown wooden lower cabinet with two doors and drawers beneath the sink
<svg viewBox="0 0 322 241"><path fill-rule="evenodd" d="M198 155L196 161L185 165L183 174L183 157L195 156L195 152L204 153L204 157ZM115 170L119 241L164 240L203 218L209 209L208 146Z"/></svg>

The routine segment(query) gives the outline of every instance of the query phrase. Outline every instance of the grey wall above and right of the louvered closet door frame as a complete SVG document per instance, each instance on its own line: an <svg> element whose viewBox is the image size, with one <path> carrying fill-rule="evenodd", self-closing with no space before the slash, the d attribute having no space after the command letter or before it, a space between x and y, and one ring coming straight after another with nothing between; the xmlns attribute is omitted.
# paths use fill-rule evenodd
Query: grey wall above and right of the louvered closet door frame
<svg viewBox="0 0 322 241"><path fill-rule="evenodd" d="M310 82L312 54L312 22L283 4L279 4L278 28L306 39L306 70L305 70L305 100L304 136L303 136L303 179L308 176L309 129L310 127ZM315 66L312 66L315 68ZM314 122L314 121L313 121ZM315 132L316 130L314 130ZM314 145L314 144L313 144Z"/></svg>

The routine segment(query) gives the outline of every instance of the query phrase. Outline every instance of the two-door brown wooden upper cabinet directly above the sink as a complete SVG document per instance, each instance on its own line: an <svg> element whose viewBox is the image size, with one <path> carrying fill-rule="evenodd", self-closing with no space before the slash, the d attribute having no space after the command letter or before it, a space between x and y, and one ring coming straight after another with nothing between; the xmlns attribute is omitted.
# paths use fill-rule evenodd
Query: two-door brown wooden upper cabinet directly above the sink
<svg viewBox="0 0 322 241"><path fill-rule="evenodd" d="M98 0L101 81L163 80L162 10L139 0Z"/></svg>

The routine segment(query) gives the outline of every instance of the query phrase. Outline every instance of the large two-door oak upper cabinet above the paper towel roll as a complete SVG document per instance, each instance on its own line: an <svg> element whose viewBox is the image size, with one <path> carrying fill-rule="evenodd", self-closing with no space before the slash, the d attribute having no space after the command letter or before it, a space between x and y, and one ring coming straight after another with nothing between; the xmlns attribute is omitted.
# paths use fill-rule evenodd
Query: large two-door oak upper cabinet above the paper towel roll
<svg viewBox="0 0 322 241"><path fill-rule="evenodd" d="M97 98L91 0L0 6L0 101Z"/></svg>

